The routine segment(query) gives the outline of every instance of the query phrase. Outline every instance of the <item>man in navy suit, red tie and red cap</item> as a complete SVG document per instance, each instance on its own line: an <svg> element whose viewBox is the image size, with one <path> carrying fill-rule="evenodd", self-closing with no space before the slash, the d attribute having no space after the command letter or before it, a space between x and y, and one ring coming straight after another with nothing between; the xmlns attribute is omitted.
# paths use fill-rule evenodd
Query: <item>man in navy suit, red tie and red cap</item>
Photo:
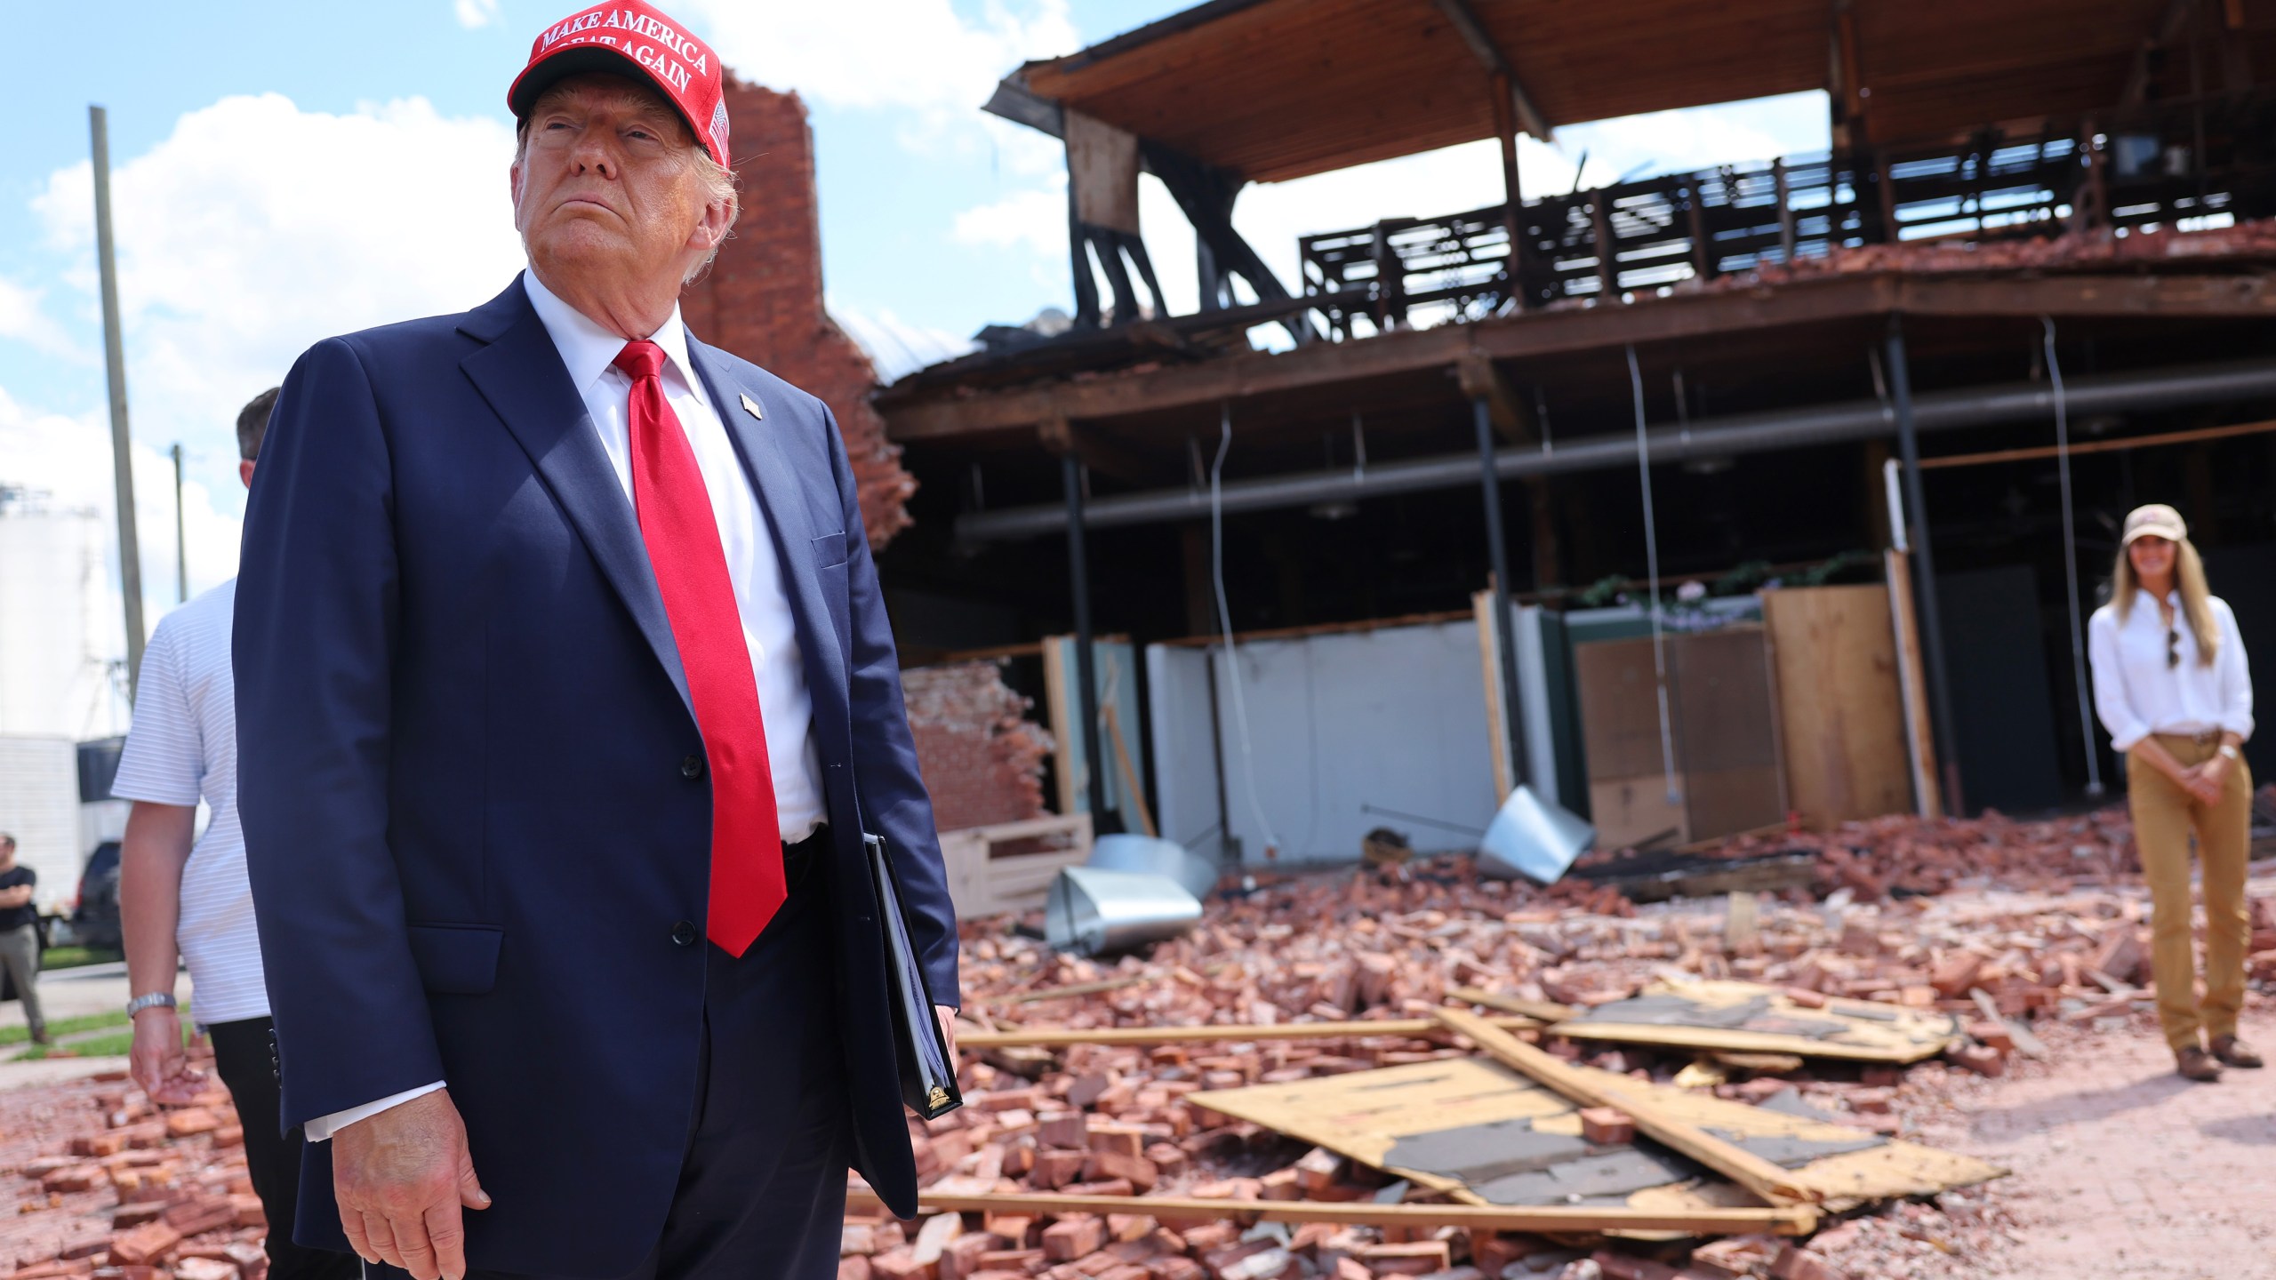
<svg viewBox="0 0 2276 1280"><path fill-rule="evenodd" d="M863 831L945 1025L956 920L838 426L681 323L719 91L646 5L549 27L530 269L278 401L239 804L298 1239L366 1273L824 1278L849 1166L917 1205Z"/></svg>

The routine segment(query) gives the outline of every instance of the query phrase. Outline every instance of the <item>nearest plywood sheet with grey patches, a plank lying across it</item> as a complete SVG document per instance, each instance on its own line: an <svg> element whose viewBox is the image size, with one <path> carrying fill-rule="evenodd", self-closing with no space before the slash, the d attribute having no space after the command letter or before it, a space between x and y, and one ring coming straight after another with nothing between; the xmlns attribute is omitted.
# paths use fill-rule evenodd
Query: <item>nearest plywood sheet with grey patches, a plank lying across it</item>
<svg viewBox="0 0 2276 1280"><path fill-rule="evenodd" d="M1609 1073L1591 1075L1611 1080ZM2001 1175L1980 1159L1887 1141L1848 1125L1673 1086L1652 1086L1650 1096L1680 1118L1784 1164L1798 1182L1823 1193L1830 1209ZM1580 1114L1568 1100L1489 1059L1218 1089L1190 1100L1470 1205L1702 1209L1753 1203L1746 1191L1657 1143L1580 1141Z"/></svg>

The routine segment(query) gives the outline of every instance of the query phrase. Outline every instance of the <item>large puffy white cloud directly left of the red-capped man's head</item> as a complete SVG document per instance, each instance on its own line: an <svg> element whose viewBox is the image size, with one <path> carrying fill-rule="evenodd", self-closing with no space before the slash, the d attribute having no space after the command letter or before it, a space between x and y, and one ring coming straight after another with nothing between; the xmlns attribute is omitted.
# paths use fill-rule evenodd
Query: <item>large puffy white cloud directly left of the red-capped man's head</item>
<svg viewBox="0 0 2276 1280"><path fill-rule="evenodd" d="M426 100L353 114L223 98L112 175L127 396L139 440L234 456L237 410L310 344L455 312L521 266L512 132ZM93 294L93 184L55 173L34 210Z"/></svg>

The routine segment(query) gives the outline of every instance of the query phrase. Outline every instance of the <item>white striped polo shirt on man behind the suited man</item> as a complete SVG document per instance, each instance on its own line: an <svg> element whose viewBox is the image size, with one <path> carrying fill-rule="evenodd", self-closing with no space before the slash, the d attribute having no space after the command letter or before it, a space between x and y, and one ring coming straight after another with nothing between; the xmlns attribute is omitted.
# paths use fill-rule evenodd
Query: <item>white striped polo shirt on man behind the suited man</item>
<svg viewBox="0 0 2276 1280"><path fill-rule="evenodd" d="M182 868L175 943L205 1025L269 1016L262 943L253 929L246 831L237 822L237 679L230 620L237 579L168 613L143 649L134 727L112 795L155 804L205 802L205 834Z"/></svg>

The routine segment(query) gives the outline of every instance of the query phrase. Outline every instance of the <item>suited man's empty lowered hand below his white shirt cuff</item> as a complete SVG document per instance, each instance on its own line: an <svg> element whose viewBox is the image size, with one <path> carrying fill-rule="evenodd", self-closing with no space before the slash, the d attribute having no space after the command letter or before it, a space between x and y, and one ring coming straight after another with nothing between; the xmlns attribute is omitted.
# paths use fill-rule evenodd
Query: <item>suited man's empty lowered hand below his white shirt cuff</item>
<svg viewBox="0 0 2276 1280"><path fill-rule="evenodd" d="M332 1134L332 1193L348 1248L364 1262L401 1266L417 1280L467 1275L460 1207L489 1207L448 1089Z"/></svg>

